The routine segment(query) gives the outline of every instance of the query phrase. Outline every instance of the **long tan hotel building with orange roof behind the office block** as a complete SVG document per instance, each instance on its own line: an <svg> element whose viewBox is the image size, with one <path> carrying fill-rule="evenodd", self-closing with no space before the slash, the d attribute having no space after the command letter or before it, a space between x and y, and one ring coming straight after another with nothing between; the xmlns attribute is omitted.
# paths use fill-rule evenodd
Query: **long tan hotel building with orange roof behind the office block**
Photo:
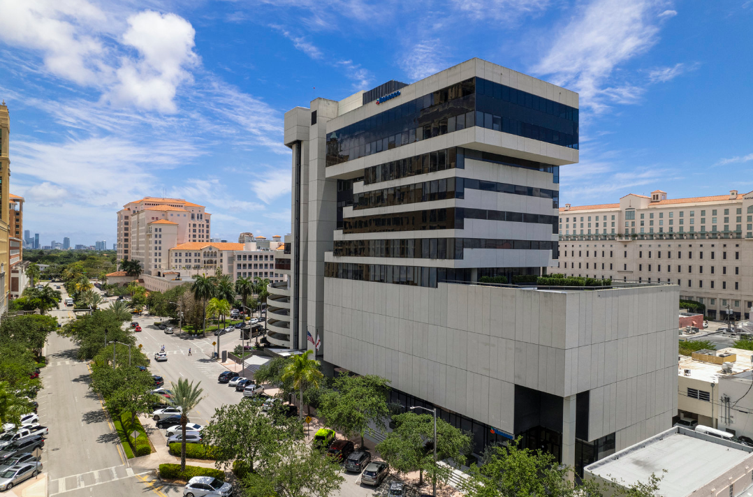
<svg viewBox="0 0 753 497"><path fill-rule="evenodd" d="M751 245L748 245L751 243ZM629 194L619 203L559 208L559 261L550 273L672 282L680 298L721 317L753 306L753 192L669 199Z"/></svg>

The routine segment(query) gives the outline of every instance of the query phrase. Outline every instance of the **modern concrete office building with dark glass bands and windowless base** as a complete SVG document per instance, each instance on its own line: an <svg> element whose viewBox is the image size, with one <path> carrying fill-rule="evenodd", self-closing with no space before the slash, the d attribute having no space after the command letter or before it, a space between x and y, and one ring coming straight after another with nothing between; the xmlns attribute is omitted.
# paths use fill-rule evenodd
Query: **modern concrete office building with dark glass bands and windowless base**
<svg viewBox="0 0 753 497"><path fill-rule="evenodd" d="M329 371L386 377L393 403L438 407L477 453L521 436L581 471L671 426L676 286L479 282L541 274L556 256L578 94L471 59L293 108L285 145L292 316L279 343L318 336Z"/></svg>

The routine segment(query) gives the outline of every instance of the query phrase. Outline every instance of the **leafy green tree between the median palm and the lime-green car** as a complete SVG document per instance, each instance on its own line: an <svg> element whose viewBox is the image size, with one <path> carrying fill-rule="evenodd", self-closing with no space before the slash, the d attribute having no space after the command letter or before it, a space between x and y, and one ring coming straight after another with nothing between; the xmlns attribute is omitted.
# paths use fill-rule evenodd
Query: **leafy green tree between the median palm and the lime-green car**
<svg viewBox="0 0 753 497"><path fill-rule="evenodd" d="M203 444L215 447L217 468L227 468L238 460L251 471L262 471L282 441L303 438L303 425L298 419L291 421L282 413L268 416L262 404L262 398L248 398L215 410L202 437Z"/></svg>

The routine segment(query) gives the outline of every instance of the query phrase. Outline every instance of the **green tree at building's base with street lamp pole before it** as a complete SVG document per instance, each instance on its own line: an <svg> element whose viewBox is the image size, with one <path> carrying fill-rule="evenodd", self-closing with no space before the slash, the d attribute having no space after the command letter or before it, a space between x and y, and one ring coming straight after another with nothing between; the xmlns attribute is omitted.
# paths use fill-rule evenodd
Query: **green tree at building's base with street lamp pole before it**
<svg viewBox="0 0 753 497"><path fill-rule="evenodd" d="M377 451L386 462L401 473L419 471L419 485L426 471L432 480L446 482L451 469L434 464L434 416L412 412L393 416L395 430L389 432ZM465 463L471 450L471 438L444 419L437 419L437 461L453 459Z"/></svg>

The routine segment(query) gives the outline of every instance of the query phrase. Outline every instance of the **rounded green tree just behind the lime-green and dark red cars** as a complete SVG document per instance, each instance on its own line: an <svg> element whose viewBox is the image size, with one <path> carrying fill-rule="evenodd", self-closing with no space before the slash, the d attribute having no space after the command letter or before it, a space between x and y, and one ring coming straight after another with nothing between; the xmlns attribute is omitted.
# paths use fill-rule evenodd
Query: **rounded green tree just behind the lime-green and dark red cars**
<svg viewBox="0 0 753 497"><path fill-rule="evenodd" d="M389 419L386 391L389 380L374 375L352 377L341 374L334 380L332 389L323 393L317 413L325 424L341 431L347 438L386 430L384 420Z"/></svg>

